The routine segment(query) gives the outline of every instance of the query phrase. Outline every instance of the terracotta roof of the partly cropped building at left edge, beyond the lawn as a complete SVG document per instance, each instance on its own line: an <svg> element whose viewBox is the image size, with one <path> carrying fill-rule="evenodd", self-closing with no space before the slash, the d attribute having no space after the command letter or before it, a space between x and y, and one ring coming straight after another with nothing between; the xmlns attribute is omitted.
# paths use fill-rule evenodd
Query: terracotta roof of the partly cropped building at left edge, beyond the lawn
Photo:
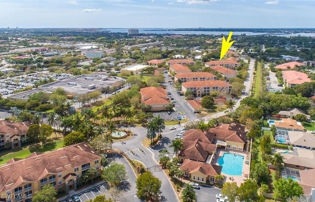
<svg viewBox="0 0 315 202"><path fill-rule="evenodd" d="M12 121L0 121L0 133L2 134L16 134L25 135L26 131L29 129L32 123L30 122L20 122L14 123Z"/></svg>

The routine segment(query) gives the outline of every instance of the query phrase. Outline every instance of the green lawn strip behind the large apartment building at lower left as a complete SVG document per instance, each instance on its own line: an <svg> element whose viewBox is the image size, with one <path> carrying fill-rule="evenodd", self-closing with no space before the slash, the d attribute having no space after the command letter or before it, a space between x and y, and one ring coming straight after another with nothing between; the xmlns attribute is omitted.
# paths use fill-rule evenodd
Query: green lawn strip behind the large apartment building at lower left
<svg viewBox="0 0 315 202"><path fill-rule="evenodd" d="M32 152L38 151L38 152L46 152L46 151L52 151L57 150L59 148L63 147L63 140L55 142L55 144L48 144L44 148L41 147L35 147L34 145L31 146L25 146L22 148L14 149L10 152L3 151L0 152L0 165L6 163L11 158L26 158L29 156Z"/></svg>

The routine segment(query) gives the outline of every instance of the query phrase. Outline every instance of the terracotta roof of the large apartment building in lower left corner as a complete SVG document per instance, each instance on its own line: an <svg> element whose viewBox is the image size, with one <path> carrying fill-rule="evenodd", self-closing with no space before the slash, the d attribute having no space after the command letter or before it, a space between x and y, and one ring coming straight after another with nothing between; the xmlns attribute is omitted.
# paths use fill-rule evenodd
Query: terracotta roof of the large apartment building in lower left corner
<svg viewBox="0 0 315 202"><path fill-rule="evenodd" d="M45 174L82 166L101 157L86 142L32 155L0 166L0 192L16 188L23 181L36 181Z"/></svg>

